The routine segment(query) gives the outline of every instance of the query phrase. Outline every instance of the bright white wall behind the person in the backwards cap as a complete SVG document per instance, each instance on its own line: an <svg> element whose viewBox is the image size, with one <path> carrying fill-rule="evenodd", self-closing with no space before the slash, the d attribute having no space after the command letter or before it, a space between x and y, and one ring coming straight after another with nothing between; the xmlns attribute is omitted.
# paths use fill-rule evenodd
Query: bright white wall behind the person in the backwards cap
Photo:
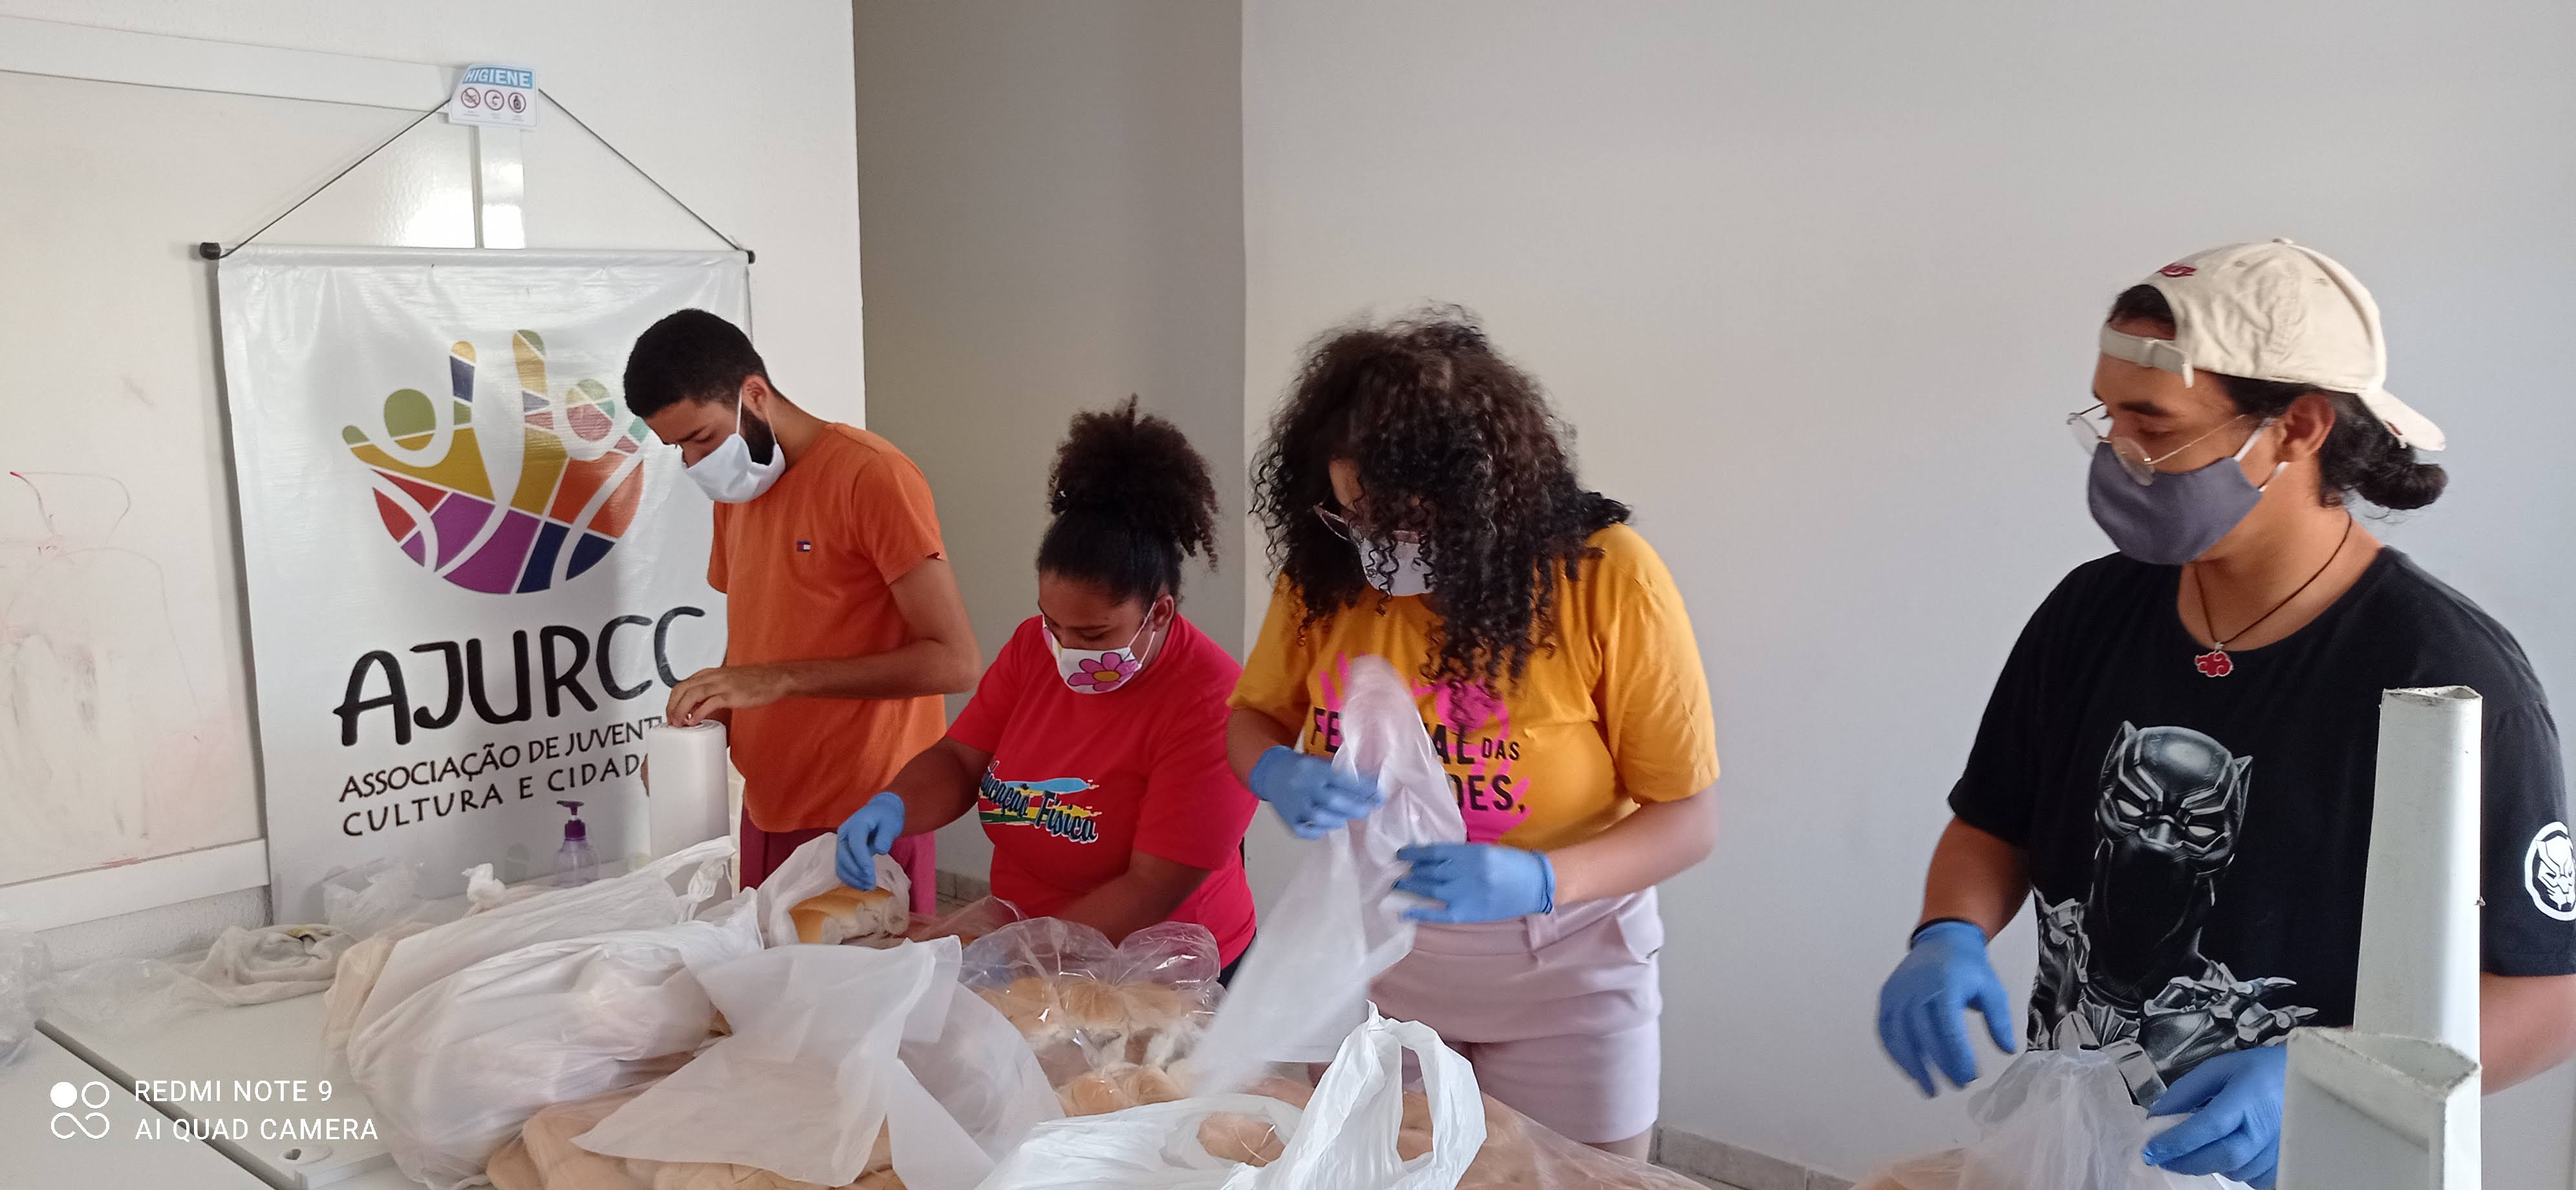
<svg viewBox="0 0 2576 1190"><path fill-rule="evenodd" d="M2391 536L2576 698L2568 44L2558 3L1244 5L1247 425L1316 330L1463 301L1690 600L1726 829L1664 899L1669 1123L1847 1177L1963 1133L1875 992L2004 649L2105 551L2092 327L2179 252L2372 283L2455 443ZM2488 1102L2488 1185L2568 1185L2571 1087Z"/></svg>

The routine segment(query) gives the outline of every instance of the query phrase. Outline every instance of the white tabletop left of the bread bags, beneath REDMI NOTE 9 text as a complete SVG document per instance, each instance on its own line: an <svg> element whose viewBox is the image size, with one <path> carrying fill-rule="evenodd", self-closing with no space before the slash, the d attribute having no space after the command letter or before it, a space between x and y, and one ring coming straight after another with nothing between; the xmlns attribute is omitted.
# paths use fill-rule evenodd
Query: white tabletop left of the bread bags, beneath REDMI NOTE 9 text
<svg viewBox="0 0 2576 1190"><path fill-rule="evenodd" d="M394 1169L394 1157L384 1146L384 1123L376 1120L376 1108L358 1092L358 1084L350 1082L345 1069L325 1064L319 994L196 1012L167 1028L142 1033L70 1030L59 1023L46 1023L44 1028L77 1059L124 1090L157 1079L216 1082L219 1097L211 1102L183 1102L185 1092L162 1095L144 1087L155 1102L142 1108L160 1108L167 1115L198 1120L201 1126L206 1120L224 1120L227 1126L229 1120L242 1120L247 1136L209 1138L198 1149L211 1146L222 1151L273 1187L394 1190L420 1185ZM301 1079L309 1097L304 1102L258 1102L237 1095L237 1082L276 1084L278 1079ZM330 1079L327 1100L319 1097L325 1079ZM309 1123L330 1118L376 1120L376 1138L317 1141L299 1136ZM263 1126L276 1131L276 1138L263 1136Z"/></svg>

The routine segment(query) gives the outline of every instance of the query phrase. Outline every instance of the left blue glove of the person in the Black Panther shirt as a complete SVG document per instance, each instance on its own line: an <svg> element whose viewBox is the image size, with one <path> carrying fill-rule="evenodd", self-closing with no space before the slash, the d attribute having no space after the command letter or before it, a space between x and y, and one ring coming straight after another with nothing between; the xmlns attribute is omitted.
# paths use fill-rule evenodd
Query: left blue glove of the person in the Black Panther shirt
<svg viewBox="0 0 2576 1190"><path fill-rule="evenodd" d="M1878 989L1878 1043L1924 1095L1940 1092L1935 1069L1965 1087L1976 1082L1971 1007L1986 1015L1994 1048L2012 1053L2012 997L1986 961L1986 932L1968 922L1932 922Z"/></svg>

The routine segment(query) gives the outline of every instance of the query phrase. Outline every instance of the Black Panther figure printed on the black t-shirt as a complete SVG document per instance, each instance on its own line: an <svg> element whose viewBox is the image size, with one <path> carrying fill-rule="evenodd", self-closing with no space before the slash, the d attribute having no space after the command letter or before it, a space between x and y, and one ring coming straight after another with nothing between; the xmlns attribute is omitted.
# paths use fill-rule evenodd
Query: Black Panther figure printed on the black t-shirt
<svg viewBox="0 0 2576 1190"><path fill-rule="evenodd" d="M2293 981L2236 979L2200 953L2251 768L2254 757L2187 726L2120 724L2102 757L2092 883L2081 899L2038 907L2035 1046L2136 1048L2172 1079L2316 1015L2267 1005Z"/></svg>

